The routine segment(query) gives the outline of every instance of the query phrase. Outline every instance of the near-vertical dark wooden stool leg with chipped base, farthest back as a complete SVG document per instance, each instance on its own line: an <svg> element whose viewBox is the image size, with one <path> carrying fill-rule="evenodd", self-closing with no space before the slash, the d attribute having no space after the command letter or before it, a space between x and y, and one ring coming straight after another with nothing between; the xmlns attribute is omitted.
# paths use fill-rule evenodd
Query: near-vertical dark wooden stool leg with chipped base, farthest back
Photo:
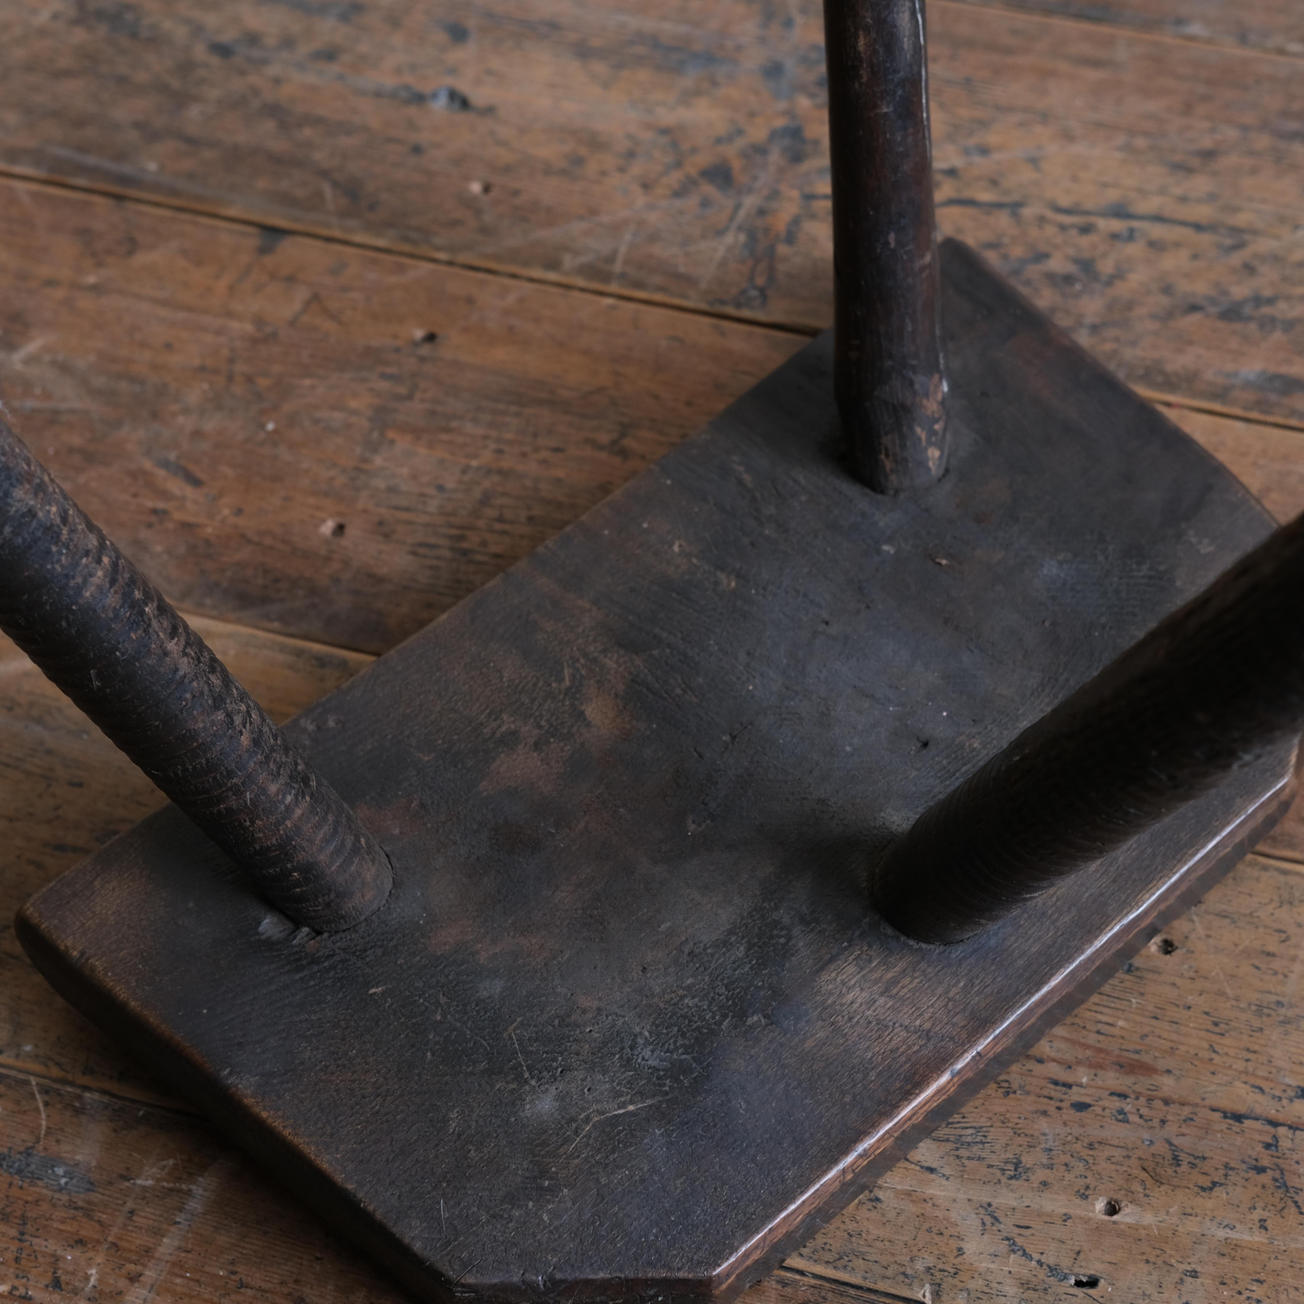
<svg viewBox="0 0 1304 1304"><path fill-rule="evenodd" d="M947 467L923 0L825 0L835 387L871 489Z"/></svg>

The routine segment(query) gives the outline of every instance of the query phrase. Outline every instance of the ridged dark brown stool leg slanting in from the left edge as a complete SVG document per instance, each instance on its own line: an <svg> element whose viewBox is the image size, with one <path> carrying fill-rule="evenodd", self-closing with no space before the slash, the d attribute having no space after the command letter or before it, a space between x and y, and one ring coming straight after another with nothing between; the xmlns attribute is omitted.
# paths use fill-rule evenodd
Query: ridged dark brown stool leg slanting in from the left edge
<svg viewBox="0 0 1304 1304"><path fill-rule="evenodd" d="M357 816L3 422L0 629L292 919L385 901Z"/></svg>

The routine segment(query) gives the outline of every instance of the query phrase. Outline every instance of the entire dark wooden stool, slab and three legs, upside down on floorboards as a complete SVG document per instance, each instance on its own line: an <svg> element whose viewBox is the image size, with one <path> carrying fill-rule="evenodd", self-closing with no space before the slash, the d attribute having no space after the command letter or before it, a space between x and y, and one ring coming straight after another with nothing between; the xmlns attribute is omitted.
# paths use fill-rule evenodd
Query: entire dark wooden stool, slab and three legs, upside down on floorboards
<svg viewBox="0 0 1304 1304"><path fill-rule="evenodd" d="M23 945L422 1296L742 1288L1291 795L1304 522L938 248L922 0L825 12L832 338L283 734L3 430L0 626L175 802Z"/></svg>

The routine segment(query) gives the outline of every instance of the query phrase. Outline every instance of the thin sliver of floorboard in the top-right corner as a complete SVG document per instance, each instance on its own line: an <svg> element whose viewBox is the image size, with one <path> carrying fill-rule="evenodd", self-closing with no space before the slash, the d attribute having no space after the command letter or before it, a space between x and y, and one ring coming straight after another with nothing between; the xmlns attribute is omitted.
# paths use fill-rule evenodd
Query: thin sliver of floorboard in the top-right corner
<svg viewBox="0 0 1304 1304"><path fill-rule="evenodd" d="M1304 9L1295 0L968 0L1025 13L1210 40L1279 55L1304 55Z"/></svg>

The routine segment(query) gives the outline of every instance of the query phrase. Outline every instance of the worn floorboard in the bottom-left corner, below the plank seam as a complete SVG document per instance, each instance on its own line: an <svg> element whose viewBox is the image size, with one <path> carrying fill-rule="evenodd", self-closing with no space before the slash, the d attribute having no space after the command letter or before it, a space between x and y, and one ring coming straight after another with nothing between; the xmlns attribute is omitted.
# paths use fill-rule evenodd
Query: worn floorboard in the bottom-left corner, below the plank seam
<svg viewBox="0 0 1304 1304"><path fill-rule="evenodd" d="M198 1119L0 1068L0 1294L403 1299Z"/></svg>

